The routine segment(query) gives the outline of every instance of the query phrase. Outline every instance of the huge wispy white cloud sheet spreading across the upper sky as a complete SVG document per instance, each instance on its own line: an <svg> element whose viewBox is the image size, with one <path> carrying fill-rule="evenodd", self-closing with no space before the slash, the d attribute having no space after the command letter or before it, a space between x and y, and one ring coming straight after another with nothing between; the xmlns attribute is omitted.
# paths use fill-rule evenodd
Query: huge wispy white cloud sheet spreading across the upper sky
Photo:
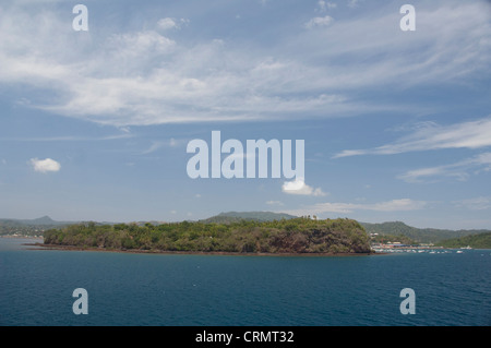
<svg viewBox="0 0 491 348"><path fill-rule="evenodd" d="M24 107L117 127L352 116L395 109L355 98L360 88L489 71L482 57L491 25L474 2L420 10L424 35L405 40L393 28L394 14L381 11L312 19L307 26L315 31L289 33L274 47L171 38L172 28L189 26L170 17L140 31L74 36L64 13L36 10L0 12L0 85L40 92L27 95ZM455 13L458 25L447 25ZM340 63L344 57L357 63Z"/></svg>

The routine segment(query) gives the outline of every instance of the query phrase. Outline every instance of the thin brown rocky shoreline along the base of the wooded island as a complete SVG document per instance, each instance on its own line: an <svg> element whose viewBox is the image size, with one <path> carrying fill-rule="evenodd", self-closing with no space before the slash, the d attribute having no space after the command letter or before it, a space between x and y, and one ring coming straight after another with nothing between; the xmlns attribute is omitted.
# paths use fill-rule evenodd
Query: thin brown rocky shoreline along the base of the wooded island
<svg viewBox="0 0 491 348"><path fill-rule="evenodd" d="M105 248L81 248L74 245L58 245L44 243L25 243L24 245L38 247L29 250L61 250L61 251L98 251L98 252L115 252L129 254L167 254L167 255L224 255L224 256L371 256L383 255L385 253L242 253L228 251L173 251L173 250L119 250Z"/></svg>

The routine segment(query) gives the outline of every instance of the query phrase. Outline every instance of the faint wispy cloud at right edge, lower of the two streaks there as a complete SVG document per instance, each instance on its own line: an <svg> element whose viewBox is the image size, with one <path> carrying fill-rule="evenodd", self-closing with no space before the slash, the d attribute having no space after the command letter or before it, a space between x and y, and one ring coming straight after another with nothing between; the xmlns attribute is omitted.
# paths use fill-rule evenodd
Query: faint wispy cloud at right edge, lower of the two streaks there
<svg viewBox="0 0 491 348"><path fill-rule="evenodd" d="M491 170L491 153L482 153L451 165L409 170L398 176L398 179L407 182L422 182L451 177L464 181L471 173L479 173L482 170Z"/></svg>

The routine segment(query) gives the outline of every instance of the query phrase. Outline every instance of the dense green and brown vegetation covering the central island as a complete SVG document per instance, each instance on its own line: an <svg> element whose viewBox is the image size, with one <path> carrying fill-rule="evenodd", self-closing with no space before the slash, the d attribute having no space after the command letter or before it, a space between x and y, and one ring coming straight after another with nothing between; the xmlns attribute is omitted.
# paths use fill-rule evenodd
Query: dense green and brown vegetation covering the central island
<svg viewBox="0 0 491 348"><path fill-rule="evenodd" d="M182 221L157 226L88 223L45 231L45 244L183 252L368 253L369 239L363 227L355 220L307 217L231 224Z"/></svg>

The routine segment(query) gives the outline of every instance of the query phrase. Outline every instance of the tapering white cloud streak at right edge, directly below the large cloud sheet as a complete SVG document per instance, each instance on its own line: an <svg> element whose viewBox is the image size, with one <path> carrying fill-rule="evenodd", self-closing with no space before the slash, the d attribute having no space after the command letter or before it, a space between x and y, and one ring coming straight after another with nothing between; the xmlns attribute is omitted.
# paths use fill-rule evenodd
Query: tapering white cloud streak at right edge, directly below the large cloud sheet
<svg viewBox="0 0 491 348"><path fill-rule="evenodd" d="M368 149L345 149L334 158L358 155L393 155L442 148L480 148L491 146L491 117L477 121L439 125L426 122L396 143Z"/></svg>

